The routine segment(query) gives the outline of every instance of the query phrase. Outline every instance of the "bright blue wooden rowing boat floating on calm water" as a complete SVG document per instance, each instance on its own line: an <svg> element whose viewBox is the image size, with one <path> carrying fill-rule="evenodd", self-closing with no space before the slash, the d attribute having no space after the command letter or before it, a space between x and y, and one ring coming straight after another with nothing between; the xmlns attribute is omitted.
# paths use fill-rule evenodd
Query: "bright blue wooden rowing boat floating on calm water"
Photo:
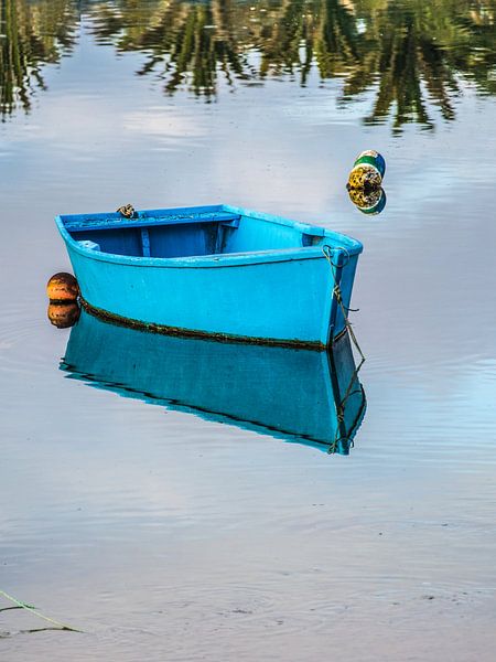
<svg viewBox="0 0 496 662"><path fill-rule="evenodd" d="M359 242L229 205L57 216L82 303L176 335L322 350L347 327Z"/></svg>

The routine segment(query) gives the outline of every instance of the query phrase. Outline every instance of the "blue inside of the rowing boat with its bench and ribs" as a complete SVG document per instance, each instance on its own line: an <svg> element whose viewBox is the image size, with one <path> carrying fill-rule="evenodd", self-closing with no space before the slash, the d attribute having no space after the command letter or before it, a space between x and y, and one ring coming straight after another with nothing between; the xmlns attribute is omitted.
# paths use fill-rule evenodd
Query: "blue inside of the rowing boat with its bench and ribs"
<svg viewBox="0 0 496 662"><path fill-rule="evenodd" d="M88 249L133 257L192 257L284 250L324 243L322 228L284 224L227 211L160 215L140 212L63 216L71 236ZM306 232L308 228L308 232Z"/></svg>

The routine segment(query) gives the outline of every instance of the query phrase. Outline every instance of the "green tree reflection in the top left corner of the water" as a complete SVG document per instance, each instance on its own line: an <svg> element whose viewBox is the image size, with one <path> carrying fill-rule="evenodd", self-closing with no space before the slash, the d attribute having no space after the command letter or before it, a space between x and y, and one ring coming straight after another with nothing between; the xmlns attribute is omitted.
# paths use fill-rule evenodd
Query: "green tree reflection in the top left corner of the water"
<svg viewBox="0 0 496 662"><path fill-rule="evenodd" d="M41 65L60 60L73 43L71 0L0 0L0 116L17 105L29 111L34 88L44 89Z"/></svg>

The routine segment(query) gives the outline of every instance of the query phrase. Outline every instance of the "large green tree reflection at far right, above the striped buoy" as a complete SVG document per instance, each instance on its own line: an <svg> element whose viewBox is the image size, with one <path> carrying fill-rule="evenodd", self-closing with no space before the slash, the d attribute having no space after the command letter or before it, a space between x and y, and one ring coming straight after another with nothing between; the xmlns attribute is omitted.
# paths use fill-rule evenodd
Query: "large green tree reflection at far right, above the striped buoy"
<svg viewBox="0 0 496 662"><path fill-rule="evenodd" d="M433 127L428 102L438 106L444 119L453 119L461 75L488 90L488 68L496 63L496 25L486 20L483 29L477 26L476 3L435 0L398 7L382 2L378 9L374 8L379 4L376 2L356 4L365 24L360 40L364 55L347 77L344 95L349 99L367 88L377 88L366 122L376 124L393 114L396 130L411 121ZM482 42L486 42L484 52L488 56L481 67L482 71L476 74L470 63L470 54L477 52ZM464 52L468 57L463 61Z"/></svg>

